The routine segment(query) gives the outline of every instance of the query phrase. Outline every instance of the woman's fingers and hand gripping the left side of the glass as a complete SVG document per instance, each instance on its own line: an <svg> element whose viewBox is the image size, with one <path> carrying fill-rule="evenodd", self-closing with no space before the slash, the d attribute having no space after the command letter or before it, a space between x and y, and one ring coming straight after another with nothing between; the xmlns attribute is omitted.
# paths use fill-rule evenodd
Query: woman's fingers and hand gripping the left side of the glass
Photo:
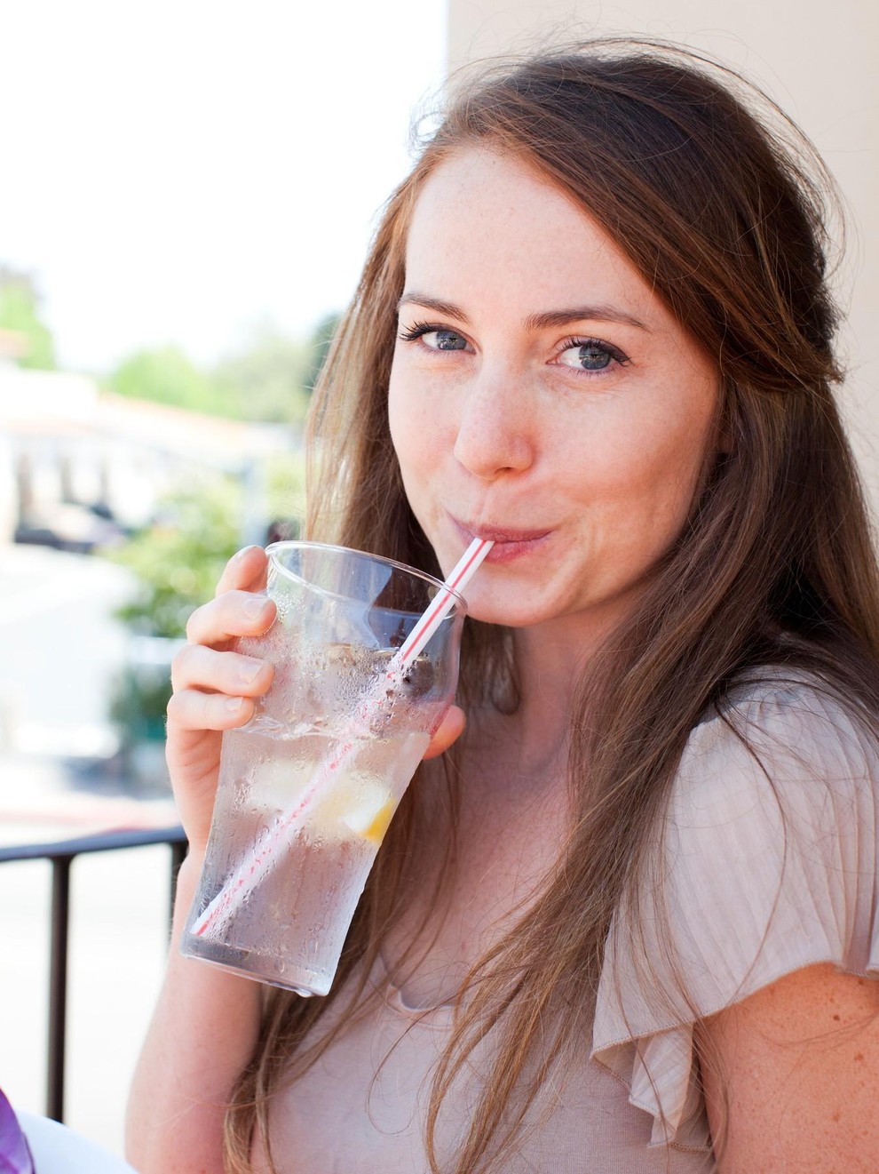
<svg viewBox="0 0 879 1174"><path fill-rule="evenodd" d="M219 771L223 730L244 726L255 699L269 688L275 669L266 661L231 652L238 636L259 636L275 621L265 588L266 555L248 546L226 564L215 598L187 625L187 647L174 659L168 704L168 770L190 849L208 839Z"/></svg>

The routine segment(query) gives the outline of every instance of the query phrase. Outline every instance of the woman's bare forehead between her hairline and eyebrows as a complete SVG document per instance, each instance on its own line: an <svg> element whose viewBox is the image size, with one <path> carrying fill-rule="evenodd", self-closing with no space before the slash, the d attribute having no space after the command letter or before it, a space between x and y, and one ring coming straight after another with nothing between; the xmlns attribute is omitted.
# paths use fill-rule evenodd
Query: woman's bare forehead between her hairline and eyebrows
<svg viewBox="0 0 879 1174"><path fill-rule="evenodd" d="M476 148L440 163L415 200L406 241L413 284L462 304L502 285L541 310L587 296L663 309L572 196L528 164Z"/></svg>

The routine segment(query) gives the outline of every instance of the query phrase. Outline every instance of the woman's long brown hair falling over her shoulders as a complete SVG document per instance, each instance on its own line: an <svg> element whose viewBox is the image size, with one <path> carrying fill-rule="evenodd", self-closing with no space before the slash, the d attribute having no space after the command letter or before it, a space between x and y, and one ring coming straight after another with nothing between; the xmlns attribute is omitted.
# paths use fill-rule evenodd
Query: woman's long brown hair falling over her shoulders
<svg viewBox="0 0 879 1174"><path fill-rule="evenodd" d="M541 899L480 959L459 1003L426 1124L433 1170L444 1097L489 1032L496 1062L448 1166L455 1174L502 1168L548 1067L588 1038L611 916L648 866L706 708L743 672L782 664L817 674L854 709L879 710L879 573L832 396L832 184L769 100L682 49L595 41L482 66L459 89L387 204L320 380L310 533L439 569L403 491L386 390L413 203L449 153L473 146L527 162L603 227L714 357L730 443L661 573L581 682L569 839ZM471 623L467 639L465 704L514 703L508 633ZM453 817L454 757L446 772ZM319 1053L323 1044L303 1047L307 1033L339 999L358 1006L405 900L418 794L410 789L379 853L337 993L268 996L228 1115L234 1170L248 1169L253 1128L268 1143L272 1092Z"/></svg>

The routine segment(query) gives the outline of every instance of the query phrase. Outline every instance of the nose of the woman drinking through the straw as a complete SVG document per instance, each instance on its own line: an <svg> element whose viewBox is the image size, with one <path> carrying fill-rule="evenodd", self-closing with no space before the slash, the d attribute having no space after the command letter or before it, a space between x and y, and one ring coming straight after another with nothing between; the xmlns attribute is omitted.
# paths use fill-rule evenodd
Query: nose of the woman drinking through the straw
<svg viewBox="0 0 879 1174"><path fill-rule="evenodd" d="M515 378L508 367L484 365L461 389L453 448L458 463L485 481L529 468L536 437L528 400L521 375Z"/></svg>

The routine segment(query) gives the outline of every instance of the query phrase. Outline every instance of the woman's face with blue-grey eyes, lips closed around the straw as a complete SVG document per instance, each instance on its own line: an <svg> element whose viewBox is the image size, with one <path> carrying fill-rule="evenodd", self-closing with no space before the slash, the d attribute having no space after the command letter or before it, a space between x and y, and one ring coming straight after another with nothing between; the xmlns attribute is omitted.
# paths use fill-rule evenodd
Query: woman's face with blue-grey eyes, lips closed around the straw
<svg viewBox="0 0 879 1174"><path fill-rule="evenodd" d="M614 242L513 158L462 151L407 239L390 385L412 510L471 615L620 618L717 446L718 375Z"/></svg>

